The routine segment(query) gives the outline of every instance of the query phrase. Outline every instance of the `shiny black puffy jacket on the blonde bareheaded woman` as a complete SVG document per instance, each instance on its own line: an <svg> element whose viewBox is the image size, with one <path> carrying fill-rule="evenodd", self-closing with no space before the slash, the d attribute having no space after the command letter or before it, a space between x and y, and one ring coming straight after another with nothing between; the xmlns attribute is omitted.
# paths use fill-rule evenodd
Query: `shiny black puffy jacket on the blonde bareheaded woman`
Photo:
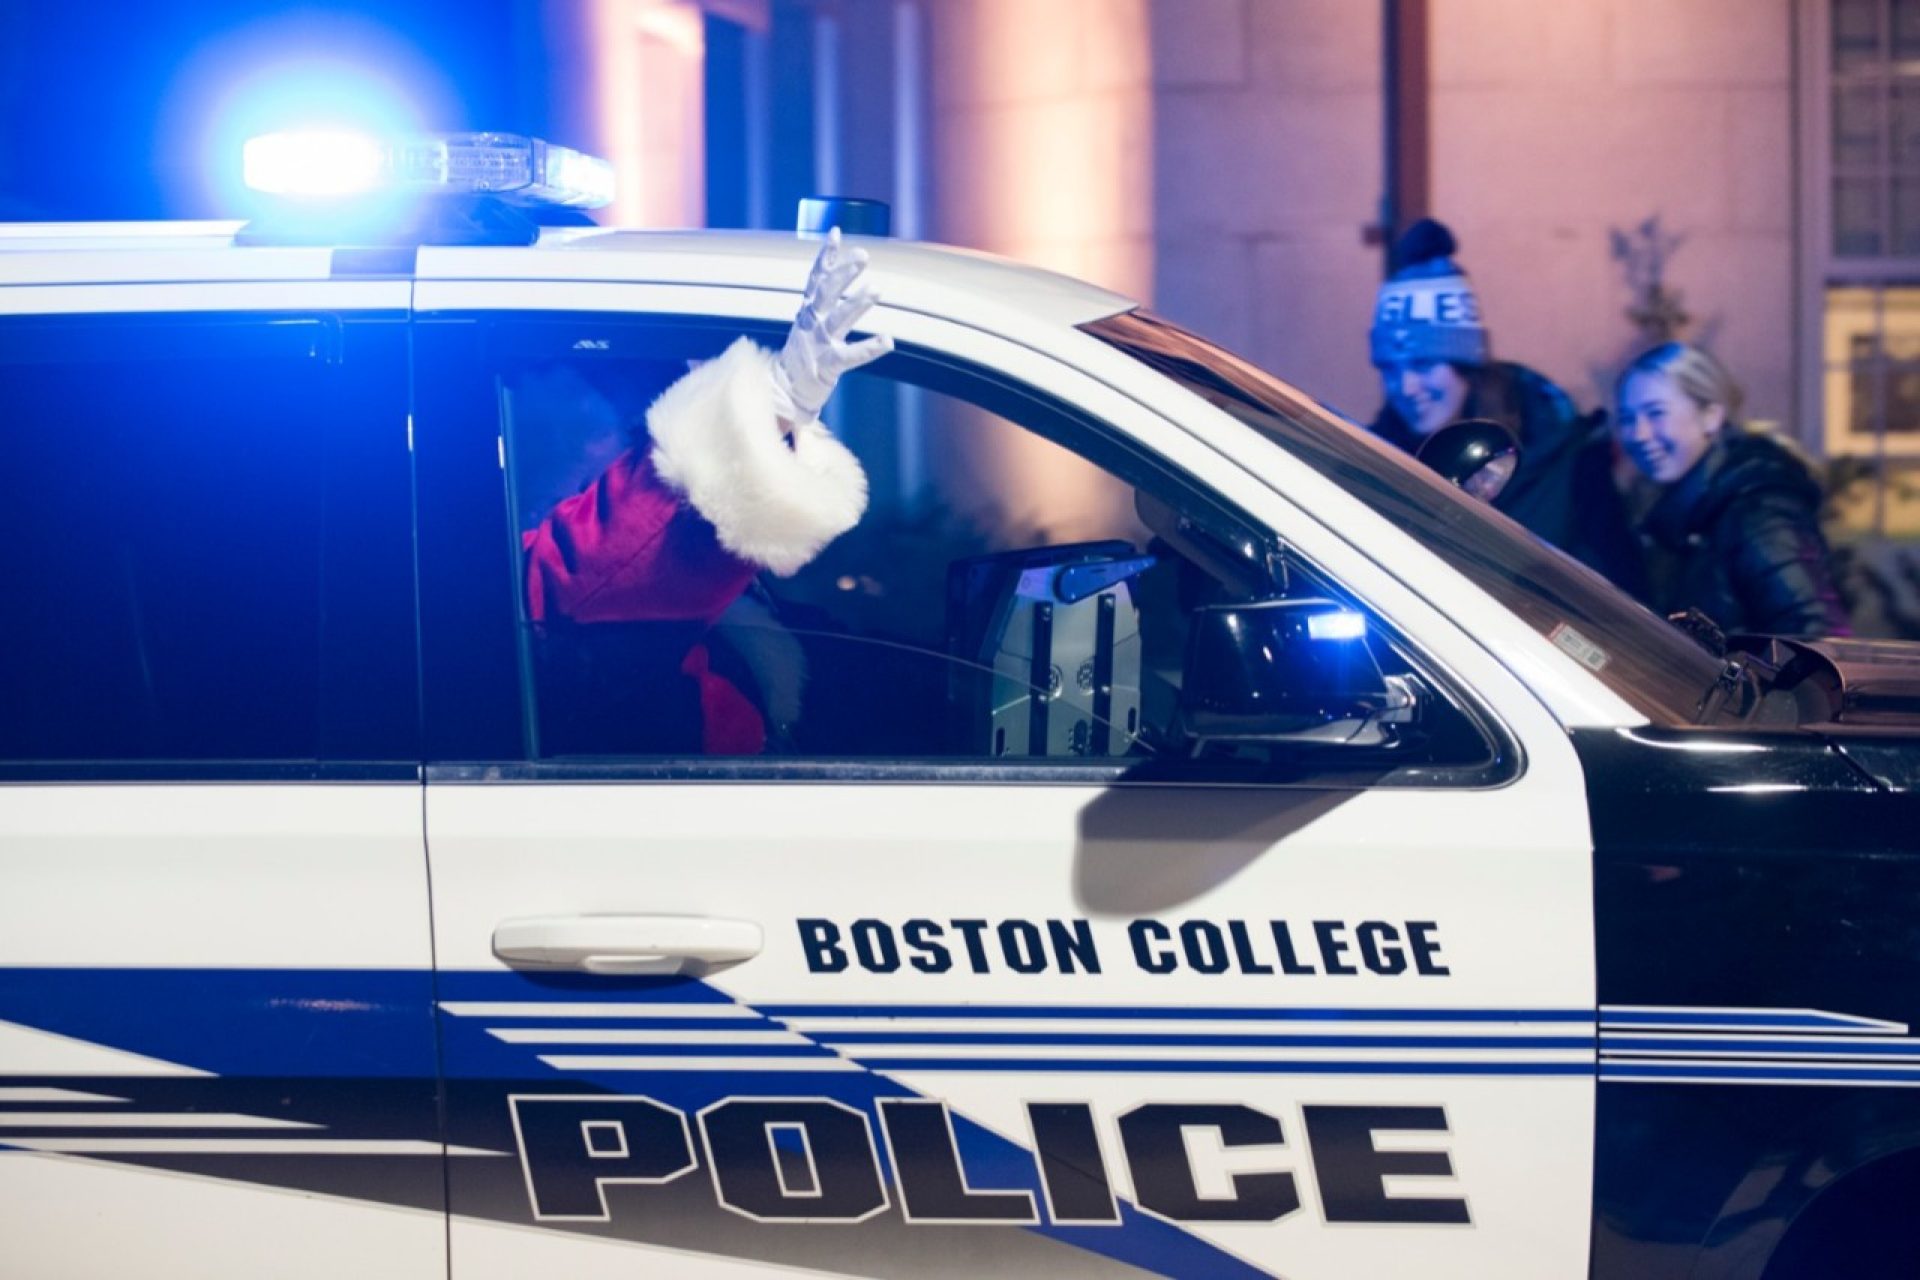
<svg viewBox="0 0 1920 1280"><path fill-rule="evenodd" d="M1820 535L1820 482L1764 436L1722 432L1642 520L1653 604L1697 608L1724 631L1845 635Z"/></svg>

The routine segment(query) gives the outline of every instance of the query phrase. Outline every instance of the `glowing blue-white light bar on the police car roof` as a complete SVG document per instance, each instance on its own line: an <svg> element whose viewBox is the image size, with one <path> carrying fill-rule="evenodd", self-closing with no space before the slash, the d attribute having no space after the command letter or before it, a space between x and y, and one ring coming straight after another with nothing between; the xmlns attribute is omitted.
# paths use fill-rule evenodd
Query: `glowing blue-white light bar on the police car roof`
<svg viewBox="0 0 1920 1280"><path fill-rule="evenodd" d="M273 132L250 138L242 161L246 184L269 196L497 196L570 209L597 209L614 196L605 159L511 132Z"/></svg>

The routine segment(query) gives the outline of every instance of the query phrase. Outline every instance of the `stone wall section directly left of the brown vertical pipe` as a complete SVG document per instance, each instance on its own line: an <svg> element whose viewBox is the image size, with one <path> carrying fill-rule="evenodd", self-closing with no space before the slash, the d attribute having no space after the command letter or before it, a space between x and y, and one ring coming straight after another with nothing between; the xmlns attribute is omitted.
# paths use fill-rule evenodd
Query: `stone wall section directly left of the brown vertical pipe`
<svg viewBox="0 0 1920 1280"><path fill-rule="evenodd" d="M1160 311L1371 415L1380 6L1154 0L1152 42Z"/></svg>

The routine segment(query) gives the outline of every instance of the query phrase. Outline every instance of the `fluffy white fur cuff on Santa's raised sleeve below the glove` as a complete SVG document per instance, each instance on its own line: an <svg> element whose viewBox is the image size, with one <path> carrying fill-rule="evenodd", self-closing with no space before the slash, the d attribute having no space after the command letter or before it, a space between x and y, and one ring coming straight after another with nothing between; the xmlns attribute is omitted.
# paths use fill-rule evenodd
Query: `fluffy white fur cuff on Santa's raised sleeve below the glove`
<svg viewBox="0 0 1920 1280"><path fill-rule="evenodd" d="M774 355L747 338L666 388L647 411L653 468L720 533L781 578L866 510L860 461L820 422L789 447L774 415Z"/></svg>

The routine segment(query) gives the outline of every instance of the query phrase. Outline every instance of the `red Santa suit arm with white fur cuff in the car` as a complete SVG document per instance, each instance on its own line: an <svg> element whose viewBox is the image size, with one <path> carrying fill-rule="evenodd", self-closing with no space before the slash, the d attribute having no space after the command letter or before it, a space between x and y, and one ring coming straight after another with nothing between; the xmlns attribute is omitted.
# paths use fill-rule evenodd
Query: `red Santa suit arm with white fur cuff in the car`
<svg viewBox="0 0 1920 1280"><path fill-rule="evenodd" d="M741 338L647 411L647 441L522 535L536 624L720 618L762 568L797 572L866 510L858 459L818 420L785 434L770 351ZM680 660L710 754L755 754L766 722L710 666L705 641Z"/></svg>

